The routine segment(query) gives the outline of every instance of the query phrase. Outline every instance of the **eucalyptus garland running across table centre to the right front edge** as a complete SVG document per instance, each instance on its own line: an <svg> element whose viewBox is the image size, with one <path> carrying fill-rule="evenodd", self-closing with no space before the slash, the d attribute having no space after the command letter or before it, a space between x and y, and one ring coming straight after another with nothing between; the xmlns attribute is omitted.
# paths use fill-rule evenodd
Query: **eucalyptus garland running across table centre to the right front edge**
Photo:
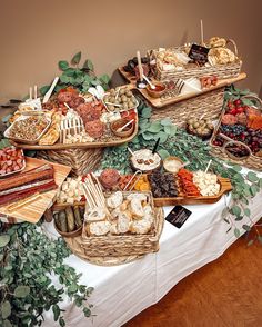
<svg viewBox="0 0 262 327"><path fill-rule="evenodd" d="M151 121L151 108L141 102L139 108L139 132L138 136L129 143L122 147L108 148L104 151L101 168L115 168L122 174L131 172L129 165L128 147L132 150L141 148L153 149L158 138L160 138L158 152L162 159L169 156L177 156L183 161L190 161L188 168L192 171L204 170L212 159L210 170L225 178L230 178L233 190L230 204L223 210L223 219L230 225L229 230L234 229L234 235L239 237L241 230L236 227L235 221L241 221L248 217L250 224L243 224L242 228L250 231L254 225L251 219L249 209L250 199L262 190L262 178L249 171L246 175L242 172L242 167L222 161L211 155L211 148L200 138L187 133L185 130L177 128L169 118L158 121ZM262 242L262 236L255 228L256 239ZM250 245L254 239L250 240Z"/></svg>

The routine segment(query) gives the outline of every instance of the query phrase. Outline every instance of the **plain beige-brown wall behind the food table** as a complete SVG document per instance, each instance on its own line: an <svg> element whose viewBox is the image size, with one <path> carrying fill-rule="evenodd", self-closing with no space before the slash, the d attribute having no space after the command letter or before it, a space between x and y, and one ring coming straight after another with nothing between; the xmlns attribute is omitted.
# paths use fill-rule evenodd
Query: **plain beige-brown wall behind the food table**
<svg viewBox="0 0 262 327"><path fill-rule="evenodd" d="M138 49L174 46L205 37L232 38L248 79L262 88L261 0L1 0L0 100L22 97L28 87L48 83L57 62L77 51L92 59L98 73L113 70Z"/></svg>

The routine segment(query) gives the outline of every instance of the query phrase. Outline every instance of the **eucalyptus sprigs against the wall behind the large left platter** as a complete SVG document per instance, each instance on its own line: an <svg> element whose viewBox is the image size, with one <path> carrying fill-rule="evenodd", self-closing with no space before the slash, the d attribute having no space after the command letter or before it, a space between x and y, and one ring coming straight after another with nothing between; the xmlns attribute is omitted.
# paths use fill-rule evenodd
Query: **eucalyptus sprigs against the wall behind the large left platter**
<svg viewBox="0 0 262 327"><path fill-rule="evenodd" d="M94 73L93 63L90 59L84 60L82 67L80 67L81 57L81 51L75 53L71 59L71 66L66 60L60 60L58 62L62 75L60 76L59 82L54 88L56 92L69 86L78 89L81 92L87 92L90 87L97 86L102 86L105 90L109 88L109 76L102 75L97 77ZM43 96L49 88L50 86L43 86L40 89L41 95Z"/></svg>

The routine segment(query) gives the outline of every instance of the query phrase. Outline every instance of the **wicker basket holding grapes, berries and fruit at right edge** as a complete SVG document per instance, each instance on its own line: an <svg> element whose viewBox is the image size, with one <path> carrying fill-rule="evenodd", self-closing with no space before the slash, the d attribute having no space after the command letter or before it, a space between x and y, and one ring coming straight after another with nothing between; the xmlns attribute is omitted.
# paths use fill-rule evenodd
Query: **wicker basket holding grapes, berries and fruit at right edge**
<svg viewBox="0 0 262 327"><path fill-rule="evenodd" d="M242 99L243 98L250 98L252 100L255 100L259 103L258 108L262 109L262 101L256 96L249 95L249 96L242 97ZM221 159L229 160L229 161L245 166L245 167L251 168L251 169L262 170L262 157L254 156L252 153L251 149L249 148L249 146L246 146L243 142L232 140L231 138L229 138L229 137L226 137L224 135L218 133L218 130L219 130L220 125L221 125L221 119L222 119L222 116L223 116L224 112L225 112L225 110L223 110L223 112L221 115L221 118L220 118L220 121L219 121L218 126L214 129L212 138L210 139L210 145L212 147L211 153L213 156L215 156L215 157L221 158ZM213 145L213 141L214 141L214 139L215 139L215 137L218 135L221 136L225 140L225 142L223 143L222 147ZM226 149L231 145L243 146L248 150L249 155L245 156L245 157L235 157L233 153L231 153Z"/></svg>

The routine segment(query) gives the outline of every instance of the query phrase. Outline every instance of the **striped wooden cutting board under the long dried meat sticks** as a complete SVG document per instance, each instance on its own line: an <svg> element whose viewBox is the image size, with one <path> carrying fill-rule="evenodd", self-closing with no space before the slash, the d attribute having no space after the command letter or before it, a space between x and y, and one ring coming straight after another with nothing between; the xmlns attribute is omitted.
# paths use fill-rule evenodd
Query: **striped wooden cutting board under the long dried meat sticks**
<svg viewBox="0 0 262 327"><path fill-rule="evenodd" d="M23 171L30 170L32 168L42 166L44 164L51 164L54 168L54 180L58 188L62 185L67 176L69 175L71 167L49 162L47 160L39 160L36 158L26 157L26 169ZM19 220L29 221L36 224L42 217L44 211L52 205L53 199L57 195L58 189L41 194L41 197L33 202L24 205L14 211L8 211L7 206L0 207L0 219L14 224ZM13 202L16 204L16 202ZM18 221L17 221L18 220Z"/></svg>

